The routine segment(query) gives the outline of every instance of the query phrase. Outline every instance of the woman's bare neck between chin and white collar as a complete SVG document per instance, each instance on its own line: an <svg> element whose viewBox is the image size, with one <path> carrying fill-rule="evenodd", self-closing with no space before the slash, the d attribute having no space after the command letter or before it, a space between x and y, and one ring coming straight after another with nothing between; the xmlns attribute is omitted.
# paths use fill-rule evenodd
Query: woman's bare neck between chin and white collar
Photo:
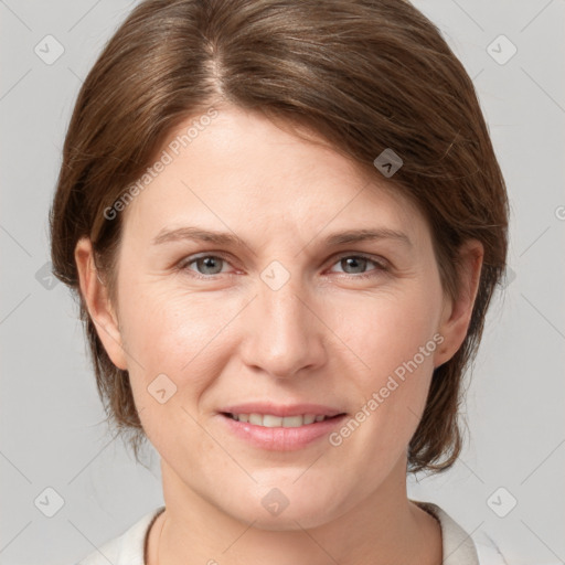
<svg viewBox="0 0 565 565"><path fill-rule="evenodd" d="M324 523L305 527L305 518L265 529L226 513L162 460L166 511L149 533L147 565L440 564L440 526L407 499L405 461L397 468L402 472L392 472L362 502Z"/></svg>

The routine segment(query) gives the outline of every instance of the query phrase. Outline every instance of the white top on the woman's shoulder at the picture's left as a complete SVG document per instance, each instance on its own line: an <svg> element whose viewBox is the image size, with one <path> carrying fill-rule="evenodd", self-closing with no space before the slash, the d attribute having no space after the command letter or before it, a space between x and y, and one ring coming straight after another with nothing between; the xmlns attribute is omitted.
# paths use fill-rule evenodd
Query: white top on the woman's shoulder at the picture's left
<svg viewBox="0 0 565 565"><path fill-rule="evenodd" d="M143 565L147 532L162 510L164 507L151 510L119 536L88 554L77 565Z"/></svg>

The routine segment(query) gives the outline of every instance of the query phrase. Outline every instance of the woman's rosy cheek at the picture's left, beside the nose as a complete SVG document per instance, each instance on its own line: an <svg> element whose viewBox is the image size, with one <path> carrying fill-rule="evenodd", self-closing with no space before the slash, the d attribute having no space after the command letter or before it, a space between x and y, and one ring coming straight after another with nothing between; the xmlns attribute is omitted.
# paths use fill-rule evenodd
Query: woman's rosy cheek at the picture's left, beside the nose
<svg viewBox="0 0 565 565"><path fill-rule="evenodd" d="M168 411L185 406L193 414L199 408L198 398L233 354L225 330L242 309L237 300L164 292L164 285L158 286L132 286L120 308L134 397L140 417L149 408L146 418L159 401L152 393L163 388L157 396L170 396Z"/></svg>

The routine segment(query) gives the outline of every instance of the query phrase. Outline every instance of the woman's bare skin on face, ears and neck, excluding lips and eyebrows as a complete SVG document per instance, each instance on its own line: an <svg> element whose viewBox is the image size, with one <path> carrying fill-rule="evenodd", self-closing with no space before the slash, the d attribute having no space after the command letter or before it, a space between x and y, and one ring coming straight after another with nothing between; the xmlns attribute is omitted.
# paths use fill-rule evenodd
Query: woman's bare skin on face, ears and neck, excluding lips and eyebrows
<svg viewBox="0 0 565 565"><path fill-rule="evenodd" d="M424 216L384 182L323 143L225 106L121 212L117 303L88 239L78 242L81 291L110 359L129 371L161 456L167 510L149 533L150 565L441 562L438 523L407 498L406 450L434 367L467 333L483 250L476 241L462 247L461 292L447 298ZM246 246L151 244L162 228L196 225ZM360 227L403 232L412 246L323 243ZM212 266L193 258L218 253ZM370 260L341 260L359 254ZM260 278L273 260L290 275L278 290ZM437 333L441 344L338 447L322 438L263 450L217 415L262 399L354 415ZM147 390L161 373L177 386L163 404ZM289 501L278 515L262 504L273 488Z"/></svg>

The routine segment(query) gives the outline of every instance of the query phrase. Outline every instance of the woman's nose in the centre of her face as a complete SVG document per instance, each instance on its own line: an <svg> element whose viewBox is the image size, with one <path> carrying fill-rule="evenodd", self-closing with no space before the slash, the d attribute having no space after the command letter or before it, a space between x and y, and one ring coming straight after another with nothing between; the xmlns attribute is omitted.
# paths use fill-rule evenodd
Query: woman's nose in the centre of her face
<svg viewBox="0 0 565 565"><path fill-rule="evenodd" d="M318 305L318 308L317 308ZM246 366L276 379L313 371L326 362L319 302L297 288L292 279L274 290L259 281L258 295L245 309L242 358Z"/></svg>

